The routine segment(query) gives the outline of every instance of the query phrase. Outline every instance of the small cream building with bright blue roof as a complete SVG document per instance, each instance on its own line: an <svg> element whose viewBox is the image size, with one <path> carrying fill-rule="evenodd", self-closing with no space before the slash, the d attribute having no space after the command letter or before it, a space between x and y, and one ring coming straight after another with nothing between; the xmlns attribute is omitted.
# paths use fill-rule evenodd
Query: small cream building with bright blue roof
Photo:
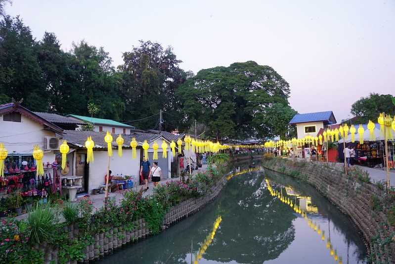
<svg viewBox="0 0 395 264"><path fill-rule="evenodd" d="M332 111L296 114L289 124L296 125L298 138L307 135L315 137L320 129L336 124L336 118Z"/></svg>

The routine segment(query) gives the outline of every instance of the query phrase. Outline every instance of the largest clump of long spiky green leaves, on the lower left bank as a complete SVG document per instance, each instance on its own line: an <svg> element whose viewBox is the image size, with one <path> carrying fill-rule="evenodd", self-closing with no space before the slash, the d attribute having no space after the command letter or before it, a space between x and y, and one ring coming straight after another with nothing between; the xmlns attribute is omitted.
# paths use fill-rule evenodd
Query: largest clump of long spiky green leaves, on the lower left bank
<svg viewBox="0 0 395 264"><path fill-rule="evenodd" d="M50 242L58 228L58 209L51 207L51 203L37 203L34 210L29 213L29 241L32 244Z"/></svg>

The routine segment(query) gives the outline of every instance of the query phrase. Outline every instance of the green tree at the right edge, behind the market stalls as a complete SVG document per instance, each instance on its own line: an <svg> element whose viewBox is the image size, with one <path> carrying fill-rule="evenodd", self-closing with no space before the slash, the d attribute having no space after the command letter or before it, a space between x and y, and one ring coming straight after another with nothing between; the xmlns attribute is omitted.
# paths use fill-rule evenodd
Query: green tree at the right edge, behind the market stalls
<svg viewBox="0 0 395 264"><path fill-rule="evenodd" d="M377 122L379 114L385 112L395 115L393 104L394 96L391 94L370 93L369 96L361 97L351 105L351 114L359 117L355 123L368 123L369 120Z"/></svg>

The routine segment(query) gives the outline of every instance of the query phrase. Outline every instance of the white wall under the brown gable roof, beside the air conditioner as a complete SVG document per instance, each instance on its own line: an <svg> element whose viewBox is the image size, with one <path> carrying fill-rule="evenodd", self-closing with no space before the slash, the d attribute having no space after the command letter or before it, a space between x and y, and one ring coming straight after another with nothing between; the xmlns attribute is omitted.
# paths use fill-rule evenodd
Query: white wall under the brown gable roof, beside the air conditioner
<svg viewBox="0 0 395 264"><path fill-rule="evenodd" d="M43 129L43 126L32 119L21 116L21 122L3 121L0 115L0 142L4 143L8 155L32 155L33 146L39 145L44 151L44 163L55 160L53 151L44 150L44 137L55 136L55 132Z"/></svg>

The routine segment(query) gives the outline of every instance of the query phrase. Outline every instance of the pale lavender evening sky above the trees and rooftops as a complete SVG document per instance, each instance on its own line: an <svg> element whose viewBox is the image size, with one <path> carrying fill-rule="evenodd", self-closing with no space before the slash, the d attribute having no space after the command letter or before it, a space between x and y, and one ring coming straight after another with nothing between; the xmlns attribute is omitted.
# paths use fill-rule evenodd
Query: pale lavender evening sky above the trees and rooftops
<svg viewBox="0 0 395 264"><path fill-rule="evenodd" d="M64 50L103 46L115 66L139 40L172 46L194 73L256 61L289 83L299 113L338 122L362 96L395 95L395 0L13 0L5 11Z"/></svg>

